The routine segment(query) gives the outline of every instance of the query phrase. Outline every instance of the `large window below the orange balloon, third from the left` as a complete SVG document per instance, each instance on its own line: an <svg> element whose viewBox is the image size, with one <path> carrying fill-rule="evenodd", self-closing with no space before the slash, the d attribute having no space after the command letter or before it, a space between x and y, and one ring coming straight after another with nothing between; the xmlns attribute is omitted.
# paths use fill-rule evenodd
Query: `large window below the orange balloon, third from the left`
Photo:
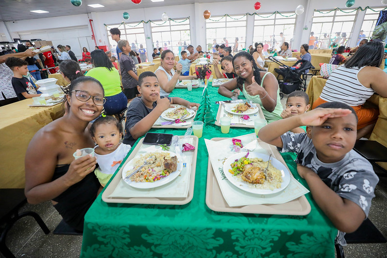
<svg viewBox="0 0 387 258"><path fill-rule="evenodd" d="M238 40L238 51L242 50L246 43L246 21L246 15L214 16L207 19L207 50L211 50L217 44L225 44L233 49L235 40ZM202 48L206 49L205 47Z"/></svg>

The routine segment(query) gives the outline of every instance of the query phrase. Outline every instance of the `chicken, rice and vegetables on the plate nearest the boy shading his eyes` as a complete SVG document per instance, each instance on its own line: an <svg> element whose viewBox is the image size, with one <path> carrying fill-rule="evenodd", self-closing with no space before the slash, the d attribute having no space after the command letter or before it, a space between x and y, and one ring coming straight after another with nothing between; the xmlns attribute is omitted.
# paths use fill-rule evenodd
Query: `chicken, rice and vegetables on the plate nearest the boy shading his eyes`
<svg viewBox="0 0 387 258"><path fill-rule="evenodd" d="M267 169L266 176L264 174L264 169L267 167L267 161L263 162L263 159L261 158L242 157L235 160L231 164L231 167L229 172L232 175L257 188L273 190L281 187L281 171L273 167L271 162Z"/></svg>

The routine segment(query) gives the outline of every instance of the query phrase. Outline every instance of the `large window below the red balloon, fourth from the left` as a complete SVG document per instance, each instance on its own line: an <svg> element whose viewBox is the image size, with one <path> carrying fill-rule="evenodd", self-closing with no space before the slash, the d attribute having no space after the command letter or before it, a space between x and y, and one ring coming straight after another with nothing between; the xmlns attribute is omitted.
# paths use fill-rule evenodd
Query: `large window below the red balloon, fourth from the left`
<svg viewBox="0 0 387 258"><path fill-rule="evenodd" d="M295 13L276 13L274 15L255 15L253 42L267 44L280 50L283 42L293 47ZM288 16L288 17L286 17ZM283 33L281 36L280 33ZM266 50L266 47L265 47Z"/></svg>

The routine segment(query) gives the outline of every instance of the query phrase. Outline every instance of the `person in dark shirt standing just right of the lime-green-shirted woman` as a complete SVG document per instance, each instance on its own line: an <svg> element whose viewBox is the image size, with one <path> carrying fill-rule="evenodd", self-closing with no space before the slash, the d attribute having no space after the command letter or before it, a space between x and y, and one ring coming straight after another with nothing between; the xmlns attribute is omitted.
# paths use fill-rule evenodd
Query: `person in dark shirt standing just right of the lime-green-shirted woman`
<svg viewBox="0 0 387 258"><path fill-rule="evenodd" d="M136 65L133 59L129 56L132 51L129 42L127 40L120 40L117 44L122 51L120 69L124 94L128 102L130 102L137 94L139 94L139 91L137 91L139 76L137 76Z"/></svg>

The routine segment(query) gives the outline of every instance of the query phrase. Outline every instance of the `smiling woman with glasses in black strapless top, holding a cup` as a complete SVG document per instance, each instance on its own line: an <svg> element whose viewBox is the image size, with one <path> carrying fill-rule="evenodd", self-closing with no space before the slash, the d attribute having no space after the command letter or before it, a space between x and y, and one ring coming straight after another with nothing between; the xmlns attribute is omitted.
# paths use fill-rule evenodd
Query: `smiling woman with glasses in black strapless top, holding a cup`
<svg viewBox="0 0 387 258"><path fill-rule="evenodd" d="M102 188L93 173L95 157L89 154L74 159L73 154L94 147L87 125L101 114L105 101L98 80L89 76L74 79L64 102L67 115L40 129L26 153L28 202L51 200L77 232L83 230L84 215Z"/></svg>

